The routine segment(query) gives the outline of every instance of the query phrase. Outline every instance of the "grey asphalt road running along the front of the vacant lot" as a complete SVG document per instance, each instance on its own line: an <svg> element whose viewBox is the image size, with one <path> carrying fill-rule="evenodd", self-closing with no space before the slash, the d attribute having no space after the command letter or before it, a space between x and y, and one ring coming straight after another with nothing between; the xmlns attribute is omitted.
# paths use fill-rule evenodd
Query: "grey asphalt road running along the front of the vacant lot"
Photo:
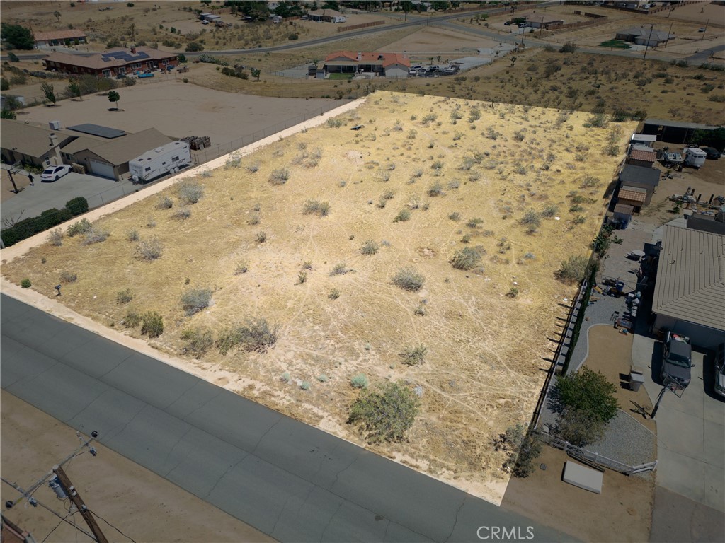
<svg viewBox="0 0 725 543"><path fill-rule="evenodd" d="M571 540L7 295L0 303L3 390L96 429L103 445L281 542L475 542L481 526Z"/></svg>

